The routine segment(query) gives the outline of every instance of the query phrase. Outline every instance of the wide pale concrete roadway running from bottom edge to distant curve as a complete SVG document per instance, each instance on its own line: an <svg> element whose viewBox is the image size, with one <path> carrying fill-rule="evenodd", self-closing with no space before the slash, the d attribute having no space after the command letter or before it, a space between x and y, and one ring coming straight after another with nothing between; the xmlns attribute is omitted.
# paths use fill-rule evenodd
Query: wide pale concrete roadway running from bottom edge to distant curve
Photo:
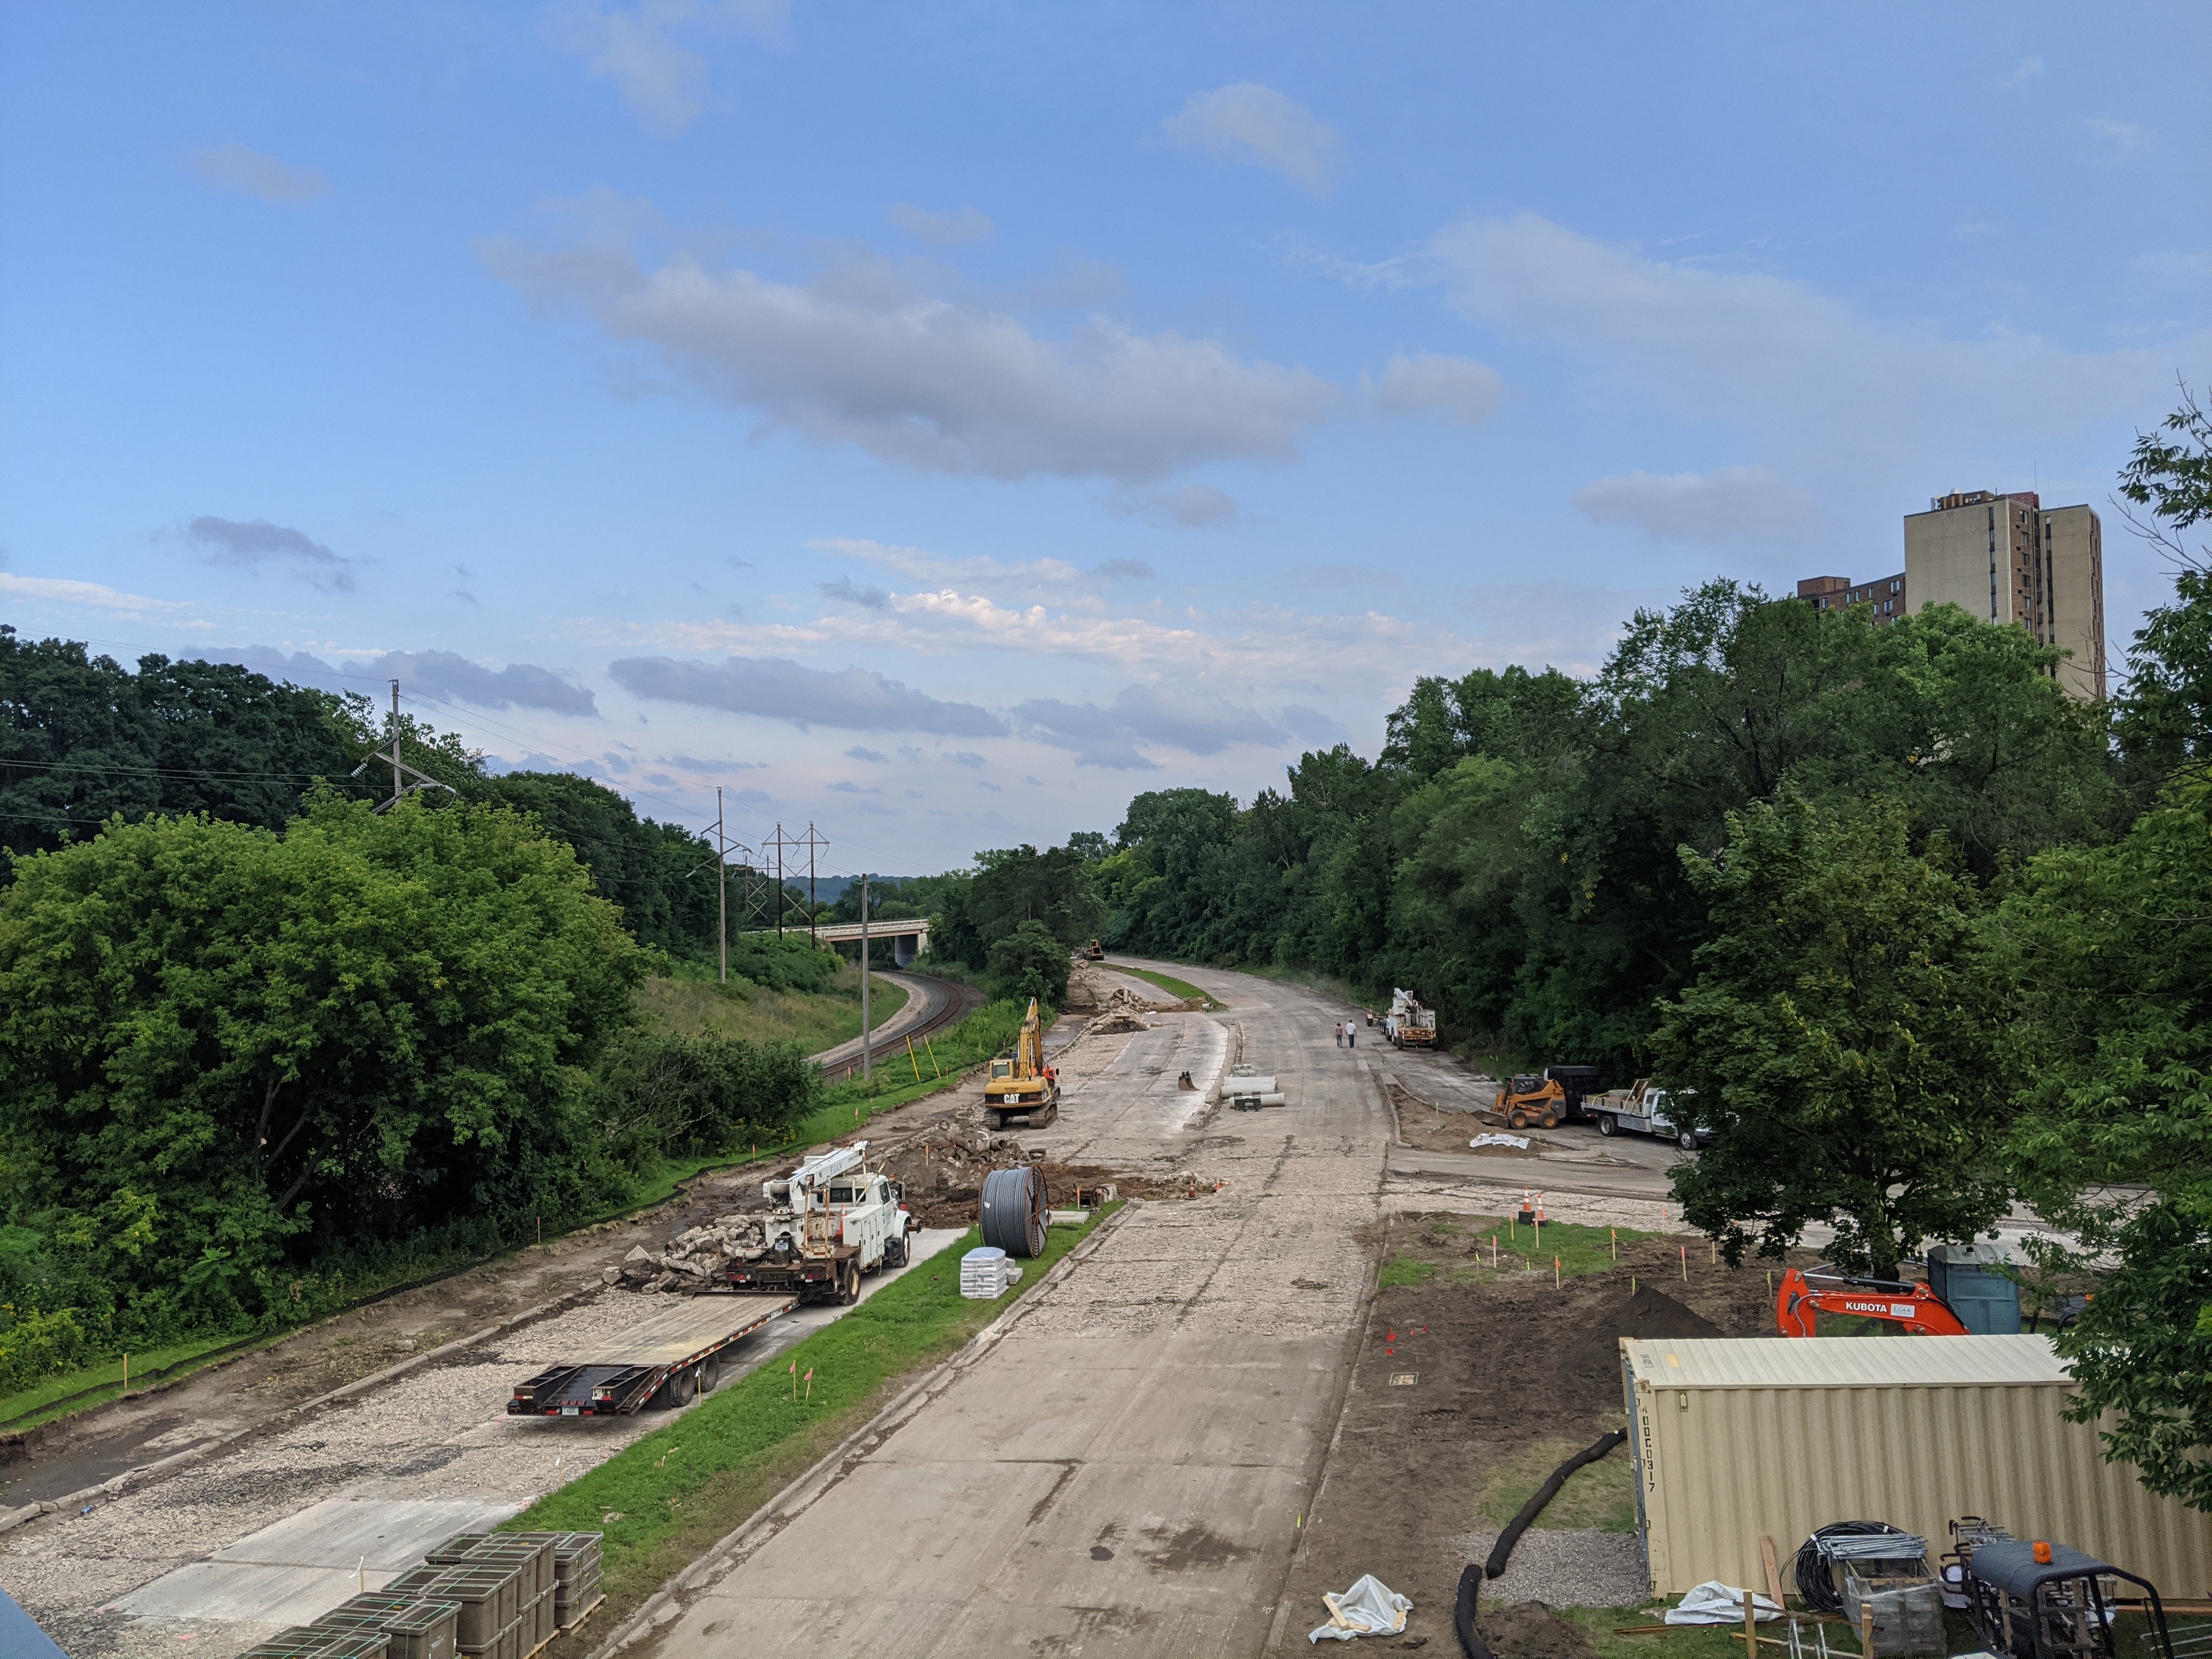
<svg viewBox="0 0 2212 1659"><path fill-rule="evenodd" d="M661 1655L1254 1655L1336 1427L1389 1110L1334 1002L1225 1004L1066 1055L1057 1157L1228 1186L1126 1210L942 1391L710 1571ZM1208 1113L1234 1040L1285 1108ZM1190 1071L1201 1093L1177 1088ZM1323 1617L1298 1608L1294 1617Z"/></svg>

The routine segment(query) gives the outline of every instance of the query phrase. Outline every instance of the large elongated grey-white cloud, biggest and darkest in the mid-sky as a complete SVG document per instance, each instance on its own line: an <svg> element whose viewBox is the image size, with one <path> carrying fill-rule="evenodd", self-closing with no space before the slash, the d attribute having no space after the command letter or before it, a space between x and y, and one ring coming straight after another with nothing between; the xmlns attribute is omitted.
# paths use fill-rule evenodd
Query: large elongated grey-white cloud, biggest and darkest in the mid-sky
<svg viewBox="0 0 2212 1659"><path fill-rule="evenodd" d="M480 252L531 303L575 305L608 334L659 347L761 411L763 429L927 471L1144 482L1208 460L1290 460L1340 396L1303 369L1104 316L1040 338L1009 312L925 294L887 268L792 285L692 254L648 272L611 241L544 252L491 239Z"/></svg>

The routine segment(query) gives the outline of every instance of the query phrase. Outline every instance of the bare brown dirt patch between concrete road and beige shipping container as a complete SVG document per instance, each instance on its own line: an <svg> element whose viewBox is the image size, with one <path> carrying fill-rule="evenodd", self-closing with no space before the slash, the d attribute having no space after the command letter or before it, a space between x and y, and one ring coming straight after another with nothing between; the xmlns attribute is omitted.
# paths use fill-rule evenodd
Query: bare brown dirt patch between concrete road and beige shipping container
<svg viewBox="0 0 2212 1659"><path fill-rule="evenodd" d="M1511 1515L1559 1460L1621 1427L1621 1336L1774 1336L1765 1263L1710 1261L1703 1239L1621 1239L1617 1263L1553 1287L1548 1263L1489 1270L1493 1225L1502 1221L1400 1214L1371 1234L1385 1263L1431 1274L1385 1283L1369 1310L1327 1482L1285 1588L1283 1655L1305 1652L1318 1615L1303 1615L1360 1573L1411 1597L1407 1637L1455 1648L1451 1604L1469 1540L1480 1535L1486 1551L1498 1513ZM1593 1491L1566 1504L1564 1520L1630 1524L1632 1509L1613 1502L1617 1475L1577 1473ZM1586 1632L1546 1610L1498 1606L1484 1610L1484 1630L1493 1619L1511 1619L1491 1637L1498 1659L1590 1659Z"/></svg>

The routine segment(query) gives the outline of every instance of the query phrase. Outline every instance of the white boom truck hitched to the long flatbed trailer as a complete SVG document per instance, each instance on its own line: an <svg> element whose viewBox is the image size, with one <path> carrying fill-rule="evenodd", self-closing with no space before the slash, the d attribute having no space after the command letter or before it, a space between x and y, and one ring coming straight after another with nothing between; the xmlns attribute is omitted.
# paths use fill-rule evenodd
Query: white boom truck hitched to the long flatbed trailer
<svg viewBox="0 0 2212 1659"><path fill-rule="evenodd" d="M805 1159L792 1175L761 1181L768 1254L732 1261L732 1290L860 1301L860 1274L907 1265L907 1234L920 1230L898 1181L867 1168L867 1141Z"/></svg>

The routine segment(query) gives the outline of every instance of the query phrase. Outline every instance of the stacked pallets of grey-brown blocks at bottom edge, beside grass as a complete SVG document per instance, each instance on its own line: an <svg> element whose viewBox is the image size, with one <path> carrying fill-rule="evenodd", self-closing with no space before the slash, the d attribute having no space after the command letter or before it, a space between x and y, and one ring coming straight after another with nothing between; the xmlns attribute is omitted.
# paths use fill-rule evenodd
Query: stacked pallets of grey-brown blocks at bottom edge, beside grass
<svg viewBox="0 0 2212 1659"><path fill-rule="evenodd" d="M599 1533L456 1533L380 1590L239 1659L529 1659L599 1601Z"/></svg>

